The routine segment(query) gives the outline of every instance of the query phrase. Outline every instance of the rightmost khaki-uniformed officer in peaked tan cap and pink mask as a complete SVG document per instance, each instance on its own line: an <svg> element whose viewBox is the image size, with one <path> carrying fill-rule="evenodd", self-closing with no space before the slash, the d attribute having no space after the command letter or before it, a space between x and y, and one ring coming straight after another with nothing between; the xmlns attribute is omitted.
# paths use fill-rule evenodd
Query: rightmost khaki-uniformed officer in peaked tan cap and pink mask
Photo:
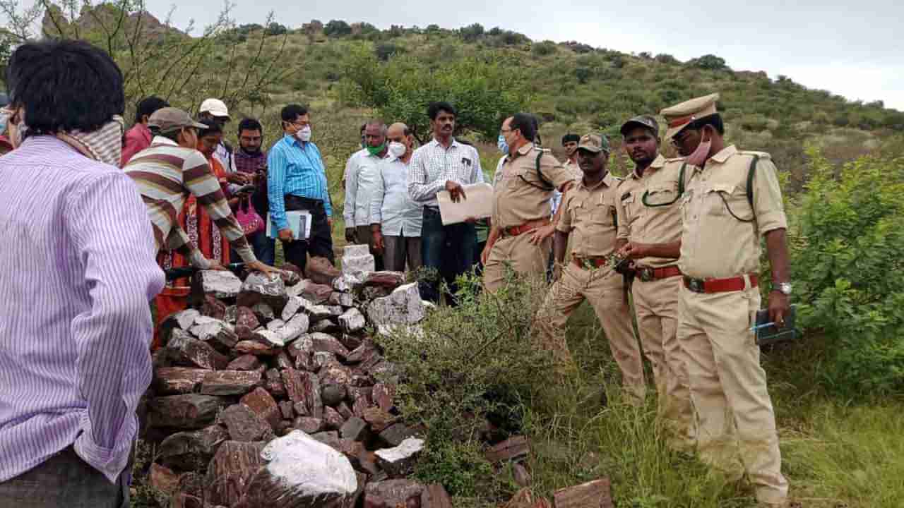
<svg viewBox="0 0 904 508"><path fill-rule="evenodd" d="M701 458L730 475L745 468L759 503L783 506L788 484L776 418L750 327L760 304L761 236L772 267L769 315L781 324L787 313L786 217L776 166L768 154L725 145L717 99L712 94L662 111L667 137L699 166L682 198L678 340L688 358Z"/></svg>

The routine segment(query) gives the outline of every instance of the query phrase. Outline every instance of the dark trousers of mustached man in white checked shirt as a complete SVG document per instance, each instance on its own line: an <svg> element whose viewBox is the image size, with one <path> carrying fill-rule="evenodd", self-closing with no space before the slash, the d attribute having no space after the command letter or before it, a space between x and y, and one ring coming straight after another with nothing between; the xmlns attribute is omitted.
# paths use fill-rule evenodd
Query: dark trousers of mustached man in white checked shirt
<svg viewBox="0 0 904 508"><path fill-rule="evenodd" d="M449 291L457 291L455 279L471 269L477 235L474 224L462 222L443 226L438 208L424 207L420 230L420 252L425 268L434 268L439 278L427 278L419 283L420 296L434 303L439 301L439 282L446 282ZM450 295L447 295L450 296ZM449 299L454 304L454 300Z"/></svg>

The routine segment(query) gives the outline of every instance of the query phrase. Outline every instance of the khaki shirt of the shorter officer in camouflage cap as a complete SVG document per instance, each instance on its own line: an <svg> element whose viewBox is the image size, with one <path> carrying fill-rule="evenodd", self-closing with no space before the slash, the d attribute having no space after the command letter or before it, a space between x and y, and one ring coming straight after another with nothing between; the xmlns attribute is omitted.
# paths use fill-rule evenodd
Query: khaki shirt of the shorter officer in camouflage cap
<svg viewBox="0 0 904 508"><path fill-rule="evenodd" d="M621 180L611 173L589 188L581 178L565 194L556 230L570 233L571 254L579 258L608 256L616 247L616 199Z"/></svg>

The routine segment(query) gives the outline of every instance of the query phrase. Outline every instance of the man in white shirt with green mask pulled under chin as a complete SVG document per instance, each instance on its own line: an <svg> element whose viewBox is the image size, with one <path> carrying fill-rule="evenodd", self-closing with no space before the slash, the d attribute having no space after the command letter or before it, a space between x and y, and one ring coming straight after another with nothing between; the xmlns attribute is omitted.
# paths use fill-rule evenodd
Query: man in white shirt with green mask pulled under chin
<svg viewBox="0 0 904 508"><path fill-rule="evenodd" d="M348 161L345 172L345 240L366 243L383 269L380 252L373 249L371 239L371 193L379 173L378 166L386 158L386 124L372 120L364 126L364 149Z"/></svg>

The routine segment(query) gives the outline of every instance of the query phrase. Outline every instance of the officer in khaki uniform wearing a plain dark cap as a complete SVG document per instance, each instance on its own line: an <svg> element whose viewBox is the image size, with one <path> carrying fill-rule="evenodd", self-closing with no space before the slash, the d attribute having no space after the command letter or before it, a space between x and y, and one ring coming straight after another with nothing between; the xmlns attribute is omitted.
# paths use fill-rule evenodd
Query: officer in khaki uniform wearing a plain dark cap
<svg viewBox="0 0 904 508"><path fill-rule="evenodd" d="M627 155L635 170L618 187L617 248L634 259L632 285L637 331L646 358L653 364L658 413L670 447L692 452L695 445L691 391L678 343L678 295L681 271L681 203L683 159L659 155L659 125L653 117L631 118L621 127ZM684 180L684 181L683 181Z"/></svg>

